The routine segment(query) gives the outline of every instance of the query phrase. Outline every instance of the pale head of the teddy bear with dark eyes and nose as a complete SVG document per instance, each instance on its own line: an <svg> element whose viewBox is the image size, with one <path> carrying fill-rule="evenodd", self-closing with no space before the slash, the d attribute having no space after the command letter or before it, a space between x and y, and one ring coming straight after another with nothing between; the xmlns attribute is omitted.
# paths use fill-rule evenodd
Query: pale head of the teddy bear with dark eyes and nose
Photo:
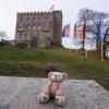
<svg viewBox="0 0 109 109"><path fill-rule="evenodd" d="M63 82L68 75L61 72L49 72L48 78L52 82Z"/></svg>

